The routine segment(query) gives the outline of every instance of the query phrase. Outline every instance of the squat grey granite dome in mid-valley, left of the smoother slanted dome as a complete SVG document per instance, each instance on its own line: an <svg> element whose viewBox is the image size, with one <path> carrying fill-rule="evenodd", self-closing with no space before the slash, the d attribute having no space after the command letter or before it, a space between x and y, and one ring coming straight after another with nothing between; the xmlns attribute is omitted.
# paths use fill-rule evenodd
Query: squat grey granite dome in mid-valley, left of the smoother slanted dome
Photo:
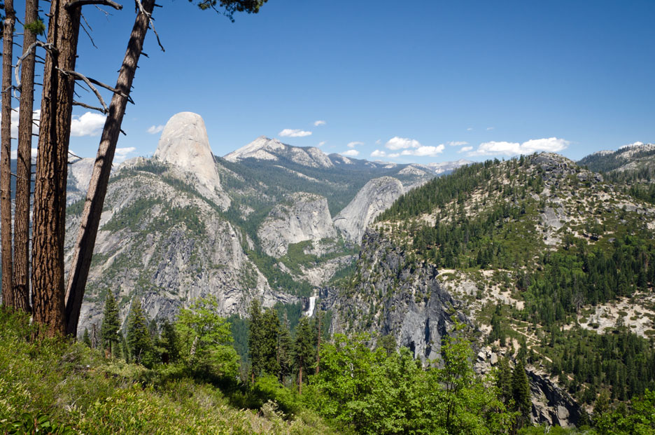
<svg viewBox="0 0 655 435"><path fill-rule="evenodd" d="M274 257L287 253L289 244L336 237L327 199L314 193L293 193L288 201L273 207L257 235L262 249Z"/></svg>

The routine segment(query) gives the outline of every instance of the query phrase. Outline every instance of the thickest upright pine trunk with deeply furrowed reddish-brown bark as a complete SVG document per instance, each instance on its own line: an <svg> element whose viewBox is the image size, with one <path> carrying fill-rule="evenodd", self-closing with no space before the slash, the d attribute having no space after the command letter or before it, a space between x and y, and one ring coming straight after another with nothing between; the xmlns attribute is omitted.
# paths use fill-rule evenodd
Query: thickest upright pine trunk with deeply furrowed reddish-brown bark
<svg viewBox="0 0 655 435"><path fill-rule="evenodd" d="M71 134L74 71L80 31L80 8L70 0L52 0L48 42L55 50L45 57L41 122L34 184L32 242L32 308L34 322L49 336L66 332L64 313L64 230L66 175Z"/></svg>

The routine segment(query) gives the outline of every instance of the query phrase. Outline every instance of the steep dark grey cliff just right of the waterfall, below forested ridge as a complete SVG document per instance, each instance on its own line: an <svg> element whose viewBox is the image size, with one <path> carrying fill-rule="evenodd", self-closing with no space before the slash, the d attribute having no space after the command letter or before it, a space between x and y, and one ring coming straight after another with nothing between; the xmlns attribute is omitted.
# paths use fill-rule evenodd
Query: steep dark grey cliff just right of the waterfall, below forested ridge
<svg viewBox="0 0 655 435"><path fill-rule="evenodd" d="M437 269L416 263L373 230L362 239L358 282L351 289L323 289L321 309L334 312L333 332L393 335L424 363L439 359L453 319L470 323L439 284Z"/></svg>

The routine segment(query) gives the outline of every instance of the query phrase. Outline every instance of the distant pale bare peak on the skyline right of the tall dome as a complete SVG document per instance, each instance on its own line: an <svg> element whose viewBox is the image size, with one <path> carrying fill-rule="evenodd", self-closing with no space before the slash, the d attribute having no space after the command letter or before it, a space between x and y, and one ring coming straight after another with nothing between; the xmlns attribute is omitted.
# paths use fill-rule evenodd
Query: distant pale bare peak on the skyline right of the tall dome
<svg viewBox="0 0 655 435"><path fill-rule="evenodd" d="M290 160L308 167L330 168L334 165L323 151L314 147L299 147L283 144L277 139L260 136L250 144L225 155L225 160L238 162L247 158L258 160Z"/></svg>

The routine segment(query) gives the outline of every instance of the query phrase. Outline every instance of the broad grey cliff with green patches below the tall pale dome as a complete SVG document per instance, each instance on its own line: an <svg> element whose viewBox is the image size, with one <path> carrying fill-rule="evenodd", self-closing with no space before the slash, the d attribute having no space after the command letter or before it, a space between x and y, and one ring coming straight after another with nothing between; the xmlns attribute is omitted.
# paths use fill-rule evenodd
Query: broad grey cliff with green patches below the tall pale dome
<svg viewBox="0 0 655 435"><path fill-rule="evenodd" d="M156 174L127 169L108 188L80 333L100 324L107 291L117 296L123 319L134 298L153 319L172 319L204 296L215 297L226 316L245 315L255 298L266 306L297 301L270 288L244 253L239 230L210 202ZM76 225L70 216L69 226ZM67 235L70 248L75 234Z"/></svg>

